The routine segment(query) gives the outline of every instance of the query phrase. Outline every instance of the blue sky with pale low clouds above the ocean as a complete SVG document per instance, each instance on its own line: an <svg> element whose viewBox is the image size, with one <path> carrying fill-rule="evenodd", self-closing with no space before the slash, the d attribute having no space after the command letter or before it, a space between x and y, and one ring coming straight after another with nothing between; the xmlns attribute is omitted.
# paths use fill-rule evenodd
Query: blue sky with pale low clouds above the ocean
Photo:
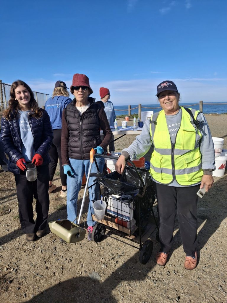
<svg viewBox="0 0 227 303"><path fill-rule="evenodd" d="M225 0L4 1L0 79L51 94L83 73L115 105L157 104L172 80L182 102L226 102L226 12Z"/></svg>

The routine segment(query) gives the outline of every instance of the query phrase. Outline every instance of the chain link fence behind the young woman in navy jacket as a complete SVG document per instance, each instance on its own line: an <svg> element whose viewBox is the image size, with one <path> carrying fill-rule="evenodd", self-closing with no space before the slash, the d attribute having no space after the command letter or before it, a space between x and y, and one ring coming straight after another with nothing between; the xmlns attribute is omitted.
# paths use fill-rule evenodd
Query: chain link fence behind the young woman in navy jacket
<svg viewBox="0 0 227 303"><path fill-rule="evenodd" d="M8 106L8 100L10 99L10 87L11 85L2 83L0 80L0 112L2 112ZM39 107L43 107L50 95L39 92L33 92L35 100Z"/></svg>

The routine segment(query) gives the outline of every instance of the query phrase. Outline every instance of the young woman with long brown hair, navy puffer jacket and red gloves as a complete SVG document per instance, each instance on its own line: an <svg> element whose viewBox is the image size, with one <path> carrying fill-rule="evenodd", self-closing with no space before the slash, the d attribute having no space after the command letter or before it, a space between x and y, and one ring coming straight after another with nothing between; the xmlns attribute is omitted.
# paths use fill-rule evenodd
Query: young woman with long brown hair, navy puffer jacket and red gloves
<svg viewBox="0 0 227 303"><path fill-rule="evenodd" d="M49 211L48 151L53 131L48 113L38 107L31 88L23 81L12 83L8 108L1 121L1 143L8 155L8 171L14 173L19 218L27 241L46 233ZM37 179L28 181L26 166L34 163ZM33 219L33 196L36 199L36 222Z"/></svg>

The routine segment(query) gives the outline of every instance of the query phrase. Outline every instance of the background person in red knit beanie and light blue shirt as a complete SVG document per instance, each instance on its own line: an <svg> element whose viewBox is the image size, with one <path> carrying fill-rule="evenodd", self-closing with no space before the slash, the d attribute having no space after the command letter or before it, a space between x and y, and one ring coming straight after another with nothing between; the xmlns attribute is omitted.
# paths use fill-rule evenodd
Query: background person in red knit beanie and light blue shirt
<svg viewBox="0 0 227 303"><path fill-rule="evenodd" d="M108 88L100 87L99 94L100 94L100 97L101 97L101 101L104 104L104 107L105 107L104 110L105 110L105 113L107 115L107 119L109 121L109 124L110 124L110 126L114 127L114 121L116 119L116 115L115 115L113 103L109 100L110 99L110 91L109 91ZM112 136L112 140L111 140L110 145L109 145L109 152L110 153L111 153L111 151L113 151L113 152L115 151L113 140L114 140L114 135Z"/></svg>

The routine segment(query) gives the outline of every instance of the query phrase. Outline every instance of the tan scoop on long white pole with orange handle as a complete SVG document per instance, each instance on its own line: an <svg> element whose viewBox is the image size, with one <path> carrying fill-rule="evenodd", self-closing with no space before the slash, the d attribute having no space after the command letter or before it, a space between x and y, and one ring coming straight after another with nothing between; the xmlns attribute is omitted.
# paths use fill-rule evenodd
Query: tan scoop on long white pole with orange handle
<svg viewBox="0 0 227 303"><path fill-rule="evenodd" d="M87 181L86 181L86 185L84 188L84 196L83 196L80 214L79 214L77 223L74 224L74 222L76 221L77 218L75 218L73 222L71 222L69 220L65 220L65 219L49 222L50 230L55 235L57 235L58 237L60 237L64 241L66 241L67 243L75 243L75 242L82 241L82 240L84 240L85 235L86 235L86 229L84 228L84 225L81 227L80 221L81 221L81 216L82 216L82 212L83 212L83 208L84 208L84 202L85 202L91 167L92 167L92 164L94 161L94 155L95 155L95 151L92 148L90 151L90 165L89 165L89 169L88 169Z"/></svg>

